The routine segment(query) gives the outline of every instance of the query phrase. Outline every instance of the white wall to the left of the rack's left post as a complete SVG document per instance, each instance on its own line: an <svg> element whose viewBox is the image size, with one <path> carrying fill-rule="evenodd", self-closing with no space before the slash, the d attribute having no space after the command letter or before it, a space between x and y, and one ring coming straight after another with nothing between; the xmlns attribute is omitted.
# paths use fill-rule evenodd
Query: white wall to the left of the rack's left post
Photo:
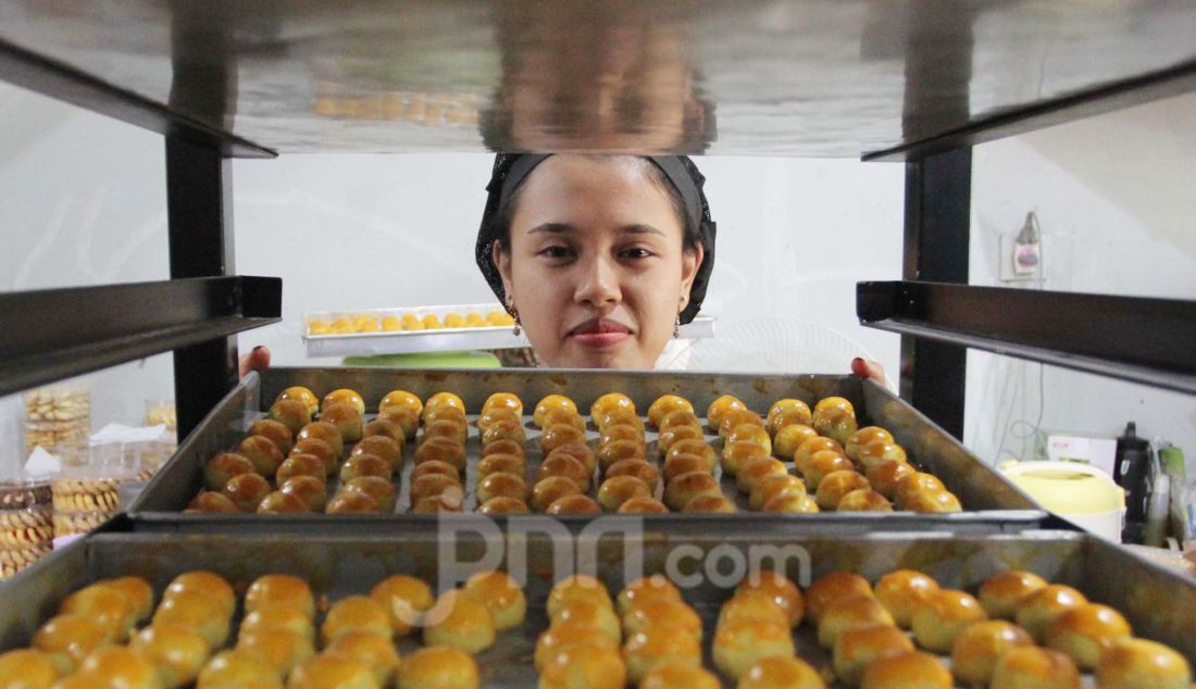
<svg viewBox="0 0 1196 689"><path fill-rule="evenodd" d="M165 280L161 138L0 84L0 291ZM173 397L169 354L81 378L96 428ZM23 450L19 397L0 400L0 476Z"/></svg>

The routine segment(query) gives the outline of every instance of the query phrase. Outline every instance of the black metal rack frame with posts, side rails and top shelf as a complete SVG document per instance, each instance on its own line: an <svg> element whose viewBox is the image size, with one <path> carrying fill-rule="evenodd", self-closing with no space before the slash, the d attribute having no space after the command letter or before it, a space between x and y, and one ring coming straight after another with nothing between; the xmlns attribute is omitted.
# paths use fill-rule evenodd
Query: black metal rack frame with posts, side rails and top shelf
<svg viewBox="0 0 1196 689"><path fill-rule="evenodd" d="M56 5L0 2L0 79L165 136L172 279L4 295L0 392L172 349L179 428L185 434L234 384L236 344L230 336L280 316L280 281L234 276L230 158L318 150L312 141L321 134L341 142L328 148L343 148L353 128L343 120L322 118L311 106L321 90L368 99L415 84L423 91L493 98L493 109L509 115L514 109L506 108L504 93L511 84L495 65L518 68L520 56L532 55L524 49L545 36L555 45L555 35L544 31L645 23L676 30L677 53L689 60L687 74L708 85L694 98L707 116L682 124L684 134L696 138L678 139L669 148L694 152L716 139L715 152L830 152L904 163L904 281L860 283L858 312L866 325L902 334L902 396L945 429L962 435L968 347L1196 392L1196 348L1190 346L1196 301L968 286L971 146L1196 89L1196 48L1190 41L1196 10L1184 4L1072 5L1066 16L1018 2L939 0L780 0L752 7L792 28L793 36L745 24L750 10L678 11L655 4L623 7L616 14L584 5L545 13L530 1L416 4L398 11L352 2L336 16L306 4L202 5L139 0L68 12ZM819 12L830 19L817 20ZM537 17L549 14L556 23L539 25ZM560 23L561 17L567 22ZM994 31L987 19L1011 30ZM1051 32L1067 22L1085 29ZM859 43L859 50L822 57L817 50L794 48L819 39L819 45L832 48ZM1048 45L1056 41L1062 44ZM1012 96L1002 97L994 87L977 93L977 56L984 65L1012 63L1029 53L1042 56L1045 66L1048 49L1076 59L1063 60L1038 94L1008 89ZM575 67L570 74L580 92L597 90L587 62L592 55L562 50L561 63ZM441 69L438 59L465 65ZM404 71L403 60L415 67ZM886 60L901 66L873 68ZM1023 78L1017 69L1009 72L995 78ZM288 86L287 79L297 81ZM844 105L837 99L840 85L858 97L867 93L873 108ZM655 93L639 98L643 105ZM773 121L780 129L771 139L757 135L752 106L803 98L813 102L805 120L781 117ZM716 109L725 112L719 111L715 126ZM737 115L744 111L748 115ZM271 120L271 114L289 120ZM586 133L578 111L551 110L539 117L532 124ZM842 124L846 133L834 145L818 129L828 122ZM635 124L628 123L627 130ZM396 124L370 128L362 139L371 150L480 150L477 129L457 128L450 136L435 127ZM484 117L481 129L494 147L535 147L537 141L518 140L509 129L488 129ZM39 325L49 315L54 327L22 327L32 313ZM1045 315L1056 323L1066 315L1076 327L1044 333L1036 324ZM69 327L80 322L90 329Z"/></svg>

